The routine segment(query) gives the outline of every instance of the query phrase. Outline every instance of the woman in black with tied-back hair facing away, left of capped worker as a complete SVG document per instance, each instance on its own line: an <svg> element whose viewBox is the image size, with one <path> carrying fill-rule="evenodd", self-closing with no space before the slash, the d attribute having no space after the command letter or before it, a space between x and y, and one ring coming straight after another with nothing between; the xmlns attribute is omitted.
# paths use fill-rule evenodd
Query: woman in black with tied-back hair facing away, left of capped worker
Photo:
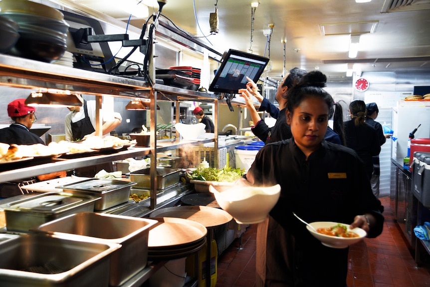
<svg viewBox="0 0 430 287"><path fill-rule="evenodd" d="M366 104L362 100L354 100L349 104L351 120L345 124L346 146L356 151L366 166L369 179L373 173L373 156L379 155L378 132L366 123Z"/></svg>

